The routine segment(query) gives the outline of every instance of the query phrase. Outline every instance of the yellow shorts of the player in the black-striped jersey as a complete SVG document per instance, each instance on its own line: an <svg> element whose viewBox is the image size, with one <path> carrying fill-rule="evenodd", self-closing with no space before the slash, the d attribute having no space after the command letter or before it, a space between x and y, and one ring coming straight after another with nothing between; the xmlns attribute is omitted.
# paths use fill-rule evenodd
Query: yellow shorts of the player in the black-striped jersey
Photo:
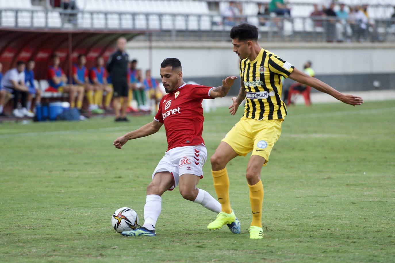
<svg viewBox="0 0 395 263"><path fill-rule="evenodd" d="M282 119L261 120L241 118L221 142L226 142L238 154L259 155L269 161L269 155L281 134Z"/></svg>

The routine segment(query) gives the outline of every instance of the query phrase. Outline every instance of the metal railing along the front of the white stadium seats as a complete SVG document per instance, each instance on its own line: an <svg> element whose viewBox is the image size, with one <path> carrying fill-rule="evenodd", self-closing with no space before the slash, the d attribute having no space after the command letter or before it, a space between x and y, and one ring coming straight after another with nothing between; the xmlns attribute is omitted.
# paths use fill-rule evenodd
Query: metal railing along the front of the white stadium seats
<svg viewBox="0 0 395 263"><path fill-rule="evenodd" d="M222 17L213 14L152 14L47 9L2 9L0 28L152 32L152 39L228 40L235 24L258 26L267 41L395 42L395 19L367 23L336 17Z"/></svg>

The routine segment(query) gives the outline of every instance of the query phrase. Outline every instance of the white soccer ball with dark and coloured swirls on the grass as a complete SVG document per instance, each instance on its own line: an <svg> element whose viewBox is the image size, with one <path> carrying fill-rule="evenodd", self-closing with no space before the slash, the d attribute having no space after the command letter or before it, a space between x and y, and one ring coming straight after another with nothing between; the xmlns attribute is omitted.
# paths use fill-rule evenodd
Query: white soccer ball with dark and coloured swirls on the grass
<svg viewBox="0 0 395 263"><path fill-rule="evenodd" d="M111 217L111 224L118 233L137 228L139 217L136 211L129 207L121 207Z"/></svg>

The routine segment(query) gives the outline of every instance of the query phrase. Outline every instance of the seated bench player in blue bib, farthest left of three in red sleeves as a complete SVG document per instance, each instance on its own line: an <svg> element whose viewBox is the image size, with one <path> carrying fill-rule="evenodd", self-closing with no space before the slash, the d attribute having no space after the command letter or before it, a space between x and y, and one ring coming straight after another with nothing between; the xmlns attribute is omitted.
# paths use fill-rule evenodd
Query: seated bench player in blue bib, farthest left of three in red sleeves
<svg viewBox="0 0 395 263"><path fill-rule="evenodd" d="M59 67L60 58L58 55L53 55L51 58L52 65L48 68L47 78L49 82L49 87L45 92L62 92L69 94L70 107L74 108L76 105L74 103L74 94L77 92L77 108L81 109L82 100L84 98L84 89L81 87L74 87L73 85L68 85L67 77L63 70Z"/></svg>

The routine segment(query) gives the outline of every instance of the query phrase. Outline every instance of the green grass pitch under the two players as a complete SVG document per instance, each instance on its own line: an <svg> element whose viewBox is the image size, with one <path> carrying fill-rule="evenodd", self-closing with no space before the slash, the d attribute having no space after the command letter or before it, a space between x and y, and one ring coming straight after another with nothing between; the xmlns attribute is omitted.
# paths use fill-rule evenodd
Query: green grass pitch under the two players
<svg viewBox="0 0 395 263"><path fill-rule="evenodd" d="M176 189L163 196L157 237L126 238L111 228L111 215L129 206L143 221L145 188L167 144L163 128L122 150L112 142L151 116L0 124L0 261L395 261L394 101L288 113L262 169L259 241L248 239L246 157L228 164L241 235L208 231L215 214ZM211 156L238 117L220 108L205 118ZM215 196L210 168L199 187Z"/></svg>

